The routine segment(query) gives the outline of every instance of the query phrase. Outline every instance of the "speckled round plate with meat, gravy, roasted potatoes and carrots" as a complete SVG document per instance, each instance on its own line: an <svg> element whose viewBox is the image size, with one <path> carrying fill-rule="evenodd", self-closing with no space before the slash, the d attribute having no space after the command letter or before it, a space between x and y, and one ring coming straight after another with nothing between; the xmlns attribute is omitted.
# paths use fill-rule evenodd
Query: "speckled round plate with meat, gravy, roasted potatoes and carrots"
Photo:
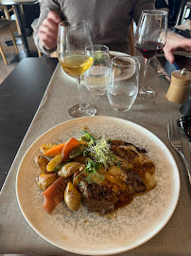
<svg viewBox="0 0 191 256"><path fill-rule="evenodd" d="M180 177L165 144L125 119L72 119L37 138L17 173L27 223L56 247L108 255L146 243L172 216Z"/></svg>

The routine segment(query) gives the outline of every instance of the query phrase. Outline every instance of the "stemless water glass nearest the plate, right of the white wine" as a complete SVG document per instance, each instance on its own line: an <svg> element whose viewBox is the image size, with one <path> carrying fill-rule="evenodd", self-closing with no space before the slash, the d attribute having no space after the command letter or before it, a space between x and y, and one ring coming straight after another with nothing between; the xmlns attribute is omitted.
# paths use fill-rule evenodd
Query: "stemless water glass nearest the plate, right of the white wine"
<svg viewBox="0 0 191 256"><path fill-rule="evenodd" d="M137 58L113 57L111 83L107 88L108 100L113 110L126 112L134 103L138 93L139 70Z"/></svg>

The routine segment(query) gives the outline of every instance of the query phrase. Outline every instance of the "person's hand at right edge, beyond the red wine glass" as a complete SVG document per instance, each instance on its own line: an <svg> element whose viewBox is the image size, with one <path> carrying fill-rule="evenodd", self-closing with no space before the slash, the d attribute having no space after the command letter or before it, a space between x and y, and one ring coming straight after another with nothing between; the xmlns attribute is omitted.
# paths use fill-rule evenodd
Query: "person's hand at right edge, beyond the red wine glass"
<svg viewBox="0 0 191 256"><path fill-rule="evenodd" d="M172 32L168 32L166 44L164 47L164 52L165 52L165 59L170 64L173 64L175 62L175 58L173 55L173 52L175 50L191 52L191 39L182 37Z"/></svg>

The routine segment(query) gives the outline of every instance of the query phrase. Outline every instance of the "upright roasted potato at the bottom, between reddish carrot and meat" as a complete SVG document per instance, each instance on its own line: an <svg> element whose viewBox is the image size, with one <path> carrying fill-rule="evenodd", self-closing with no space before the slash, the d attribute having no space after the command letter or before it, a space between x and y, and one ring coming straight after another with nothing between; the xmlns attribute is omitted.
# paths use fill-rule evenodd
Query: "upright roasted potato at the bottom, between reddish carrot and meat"
<svg viewBox="0 0 191 256"><path fill-rule="evenodd" d="M81 203L81 194L69 181L64 192L64 201L70 210L78 210Z"/></svg>

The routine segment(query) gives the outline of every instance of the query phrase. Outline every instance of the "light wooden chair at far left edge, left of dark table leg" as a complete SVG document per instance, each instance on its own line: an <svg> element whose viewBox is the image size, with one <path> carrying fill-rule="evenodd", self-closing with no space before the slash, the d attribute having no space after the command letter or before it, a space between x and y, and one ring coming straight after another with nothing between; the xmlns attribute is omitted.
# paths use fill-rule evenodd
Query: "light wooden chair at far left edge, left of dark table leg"
<svg viewBox="0 0 191 256"><path fill-rule="evenodd" d="M3 29L9 29L9 32L10 32L10 35L12 37L12 42L13 42L13 45L15 47L16 53L19 54L19 50L17 48L16 42L15 42L15 38L14 38L14 34L13 34L12 28L11 28L11 21L6 20L6 19L0 19L0 32ZM2 57L3 57L4 63L7 65L8 62L7 62L7 59L6 59L3 47L1 45L1 42L0 42L0 53L1 53Z"/></svg>

